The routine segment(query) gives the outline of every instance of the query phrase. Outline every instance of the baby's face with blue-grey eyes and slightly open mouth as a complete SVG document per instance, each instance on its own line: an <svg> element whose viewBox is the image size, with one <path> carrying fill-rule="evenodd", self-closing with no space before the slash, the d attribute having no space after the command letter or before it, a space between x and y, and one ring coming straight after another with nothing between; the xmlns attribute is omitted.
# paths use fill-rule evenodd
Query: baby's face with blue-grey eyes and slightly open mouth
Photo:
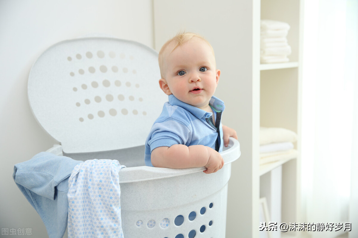
<svg viewBox="0 0 358 238"><path fill-rule="evenodd" d="M204 109L214 95L220 70L216 69L211 47L203 40L195 39L178 46L166 55L164 79L169 86L167 95Z"/></svg>

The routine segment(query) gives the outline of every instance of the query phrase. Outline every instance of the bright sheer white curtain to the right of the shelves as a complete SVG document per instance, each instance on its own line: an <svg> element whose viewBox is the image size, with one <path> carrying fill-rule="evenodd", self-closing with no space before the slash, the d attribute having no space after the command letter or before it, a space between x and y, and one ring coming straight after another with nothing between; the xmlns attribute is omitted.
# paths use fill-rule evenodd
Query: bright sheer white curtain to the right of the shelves
<svg viewBox="0 0 358 238"><path fill-rule="evenodd" d="M345 223L358 237L358 182L351 176L358 171L357 14L358 0L305 1L303 215L306 223L343 223L339 231L310 232L312 238L336 237Z"/></svg>

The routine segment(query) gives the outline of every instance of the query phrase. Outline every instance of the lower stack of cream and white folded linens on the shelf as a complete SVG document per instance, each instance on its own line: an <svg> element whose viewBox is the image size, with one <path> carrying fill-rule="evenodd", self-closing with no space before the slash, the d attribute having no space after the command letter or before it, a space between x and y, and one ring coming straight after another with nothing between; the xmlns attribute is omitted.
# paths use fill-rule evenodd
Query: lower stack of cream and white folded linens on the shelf
<svg viewBox="0 0 358 238"><path fill-rule="evenodd" d="M260 127L260 165L297 157L297 134L285 128Z"/></svg>

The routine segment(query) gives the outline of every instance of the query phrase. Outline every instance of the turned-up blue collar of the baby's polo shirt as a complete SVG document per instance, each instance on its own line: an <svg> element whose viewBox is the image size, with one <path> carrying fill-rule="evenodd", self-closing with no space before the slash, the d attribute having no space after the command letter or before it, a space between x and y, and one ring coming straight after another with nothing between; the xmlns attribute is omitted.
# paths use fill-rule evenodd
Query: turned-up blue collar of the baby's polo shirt
<svg viewBox="0 0 358 238"><path fill-rule="evenodd" d="M184 103L183 101L180 101L173 94L170 94L168 96L168 98L169 98L170 105L172 105L172 106L180 106L181 108L184 108L185 110L187 110L190 113L192 113L197 118L202 118L203 116L205 116L205 114L208 113L207 111L204 111L204 110L202 110L200 108L197 108L197 107L192 106L190 104ZM218 99L215 96L211 97L211 99L209 101L209 105L216 112L221 112L225 108L224 102L222 100Z"/></svg>

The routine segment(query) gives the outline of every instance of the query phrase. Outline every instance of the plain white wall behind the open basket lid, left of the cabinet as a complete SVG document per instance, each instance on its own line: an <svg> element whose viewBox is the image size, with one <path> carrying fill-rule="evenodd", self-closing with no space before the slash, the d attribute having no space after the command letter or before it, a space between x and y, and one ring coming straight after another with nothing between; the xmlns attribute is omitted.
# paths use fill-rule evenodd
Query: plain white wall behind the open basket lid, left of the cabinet
<svg viewBox="0 0 358 238"><path fill-rule="evenodd" d="M12 179L14 164L56 143L32 115L27 78L34 61L49 46L89 33L153 47L152 1L0 0L1 228L32 228L33 237L47 237L39 215Z"/></svg>

